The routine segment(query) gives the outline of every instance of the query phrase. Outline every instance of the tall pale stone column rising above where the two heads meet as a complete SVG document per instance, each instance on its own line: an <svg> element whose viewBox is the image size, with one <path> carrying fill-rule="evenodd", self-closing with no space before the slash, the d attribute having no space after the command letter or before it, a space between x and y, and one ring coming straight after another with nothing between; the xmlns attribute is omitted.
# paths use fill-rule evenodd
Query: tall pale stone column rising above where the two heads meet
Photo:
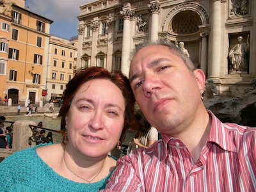
<svg viewBox="0 0 256 192"><path fill-rule="evenodd" d="M131 51L130 26L131 19L134 17L135 13L131 10L131 4L129 3L127 3L127 6L125 6L120 13L124 17L121 70L128 77L130 67L129 54Z"/></svg>

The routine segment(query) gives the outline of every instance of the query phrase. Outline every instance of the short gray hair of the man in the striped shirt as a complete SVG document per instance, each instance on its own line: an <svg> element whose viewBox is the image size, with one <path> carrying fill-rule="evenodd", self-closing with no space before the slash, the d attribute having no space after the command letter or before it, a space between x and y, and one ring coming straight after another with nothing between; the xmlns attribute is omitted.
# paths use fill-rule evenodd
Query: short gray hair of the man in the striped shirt
<svg viewBox="0 0 256 192"><path fill-rule="evenodd" d="M169 47L170 51L172 51L173 54L175 54L176 56L179 56L184 61L185 65L188 67L188 69L191 72L193 72L196 69L195 65L193 65L192 61L188 58L188 56L186 56L186 54L184 54L184 52L182 52L179 49L179 47L176 47L170 40L166 38L159 38L158 40L155 40L155 41L145 40L140 44L135 45L135 48L132 50L130 54L130 58L129 58L130 62L132 58L137 54L137 52L140 51L140 49L150 45L164 45L166 47Z"/></svg>

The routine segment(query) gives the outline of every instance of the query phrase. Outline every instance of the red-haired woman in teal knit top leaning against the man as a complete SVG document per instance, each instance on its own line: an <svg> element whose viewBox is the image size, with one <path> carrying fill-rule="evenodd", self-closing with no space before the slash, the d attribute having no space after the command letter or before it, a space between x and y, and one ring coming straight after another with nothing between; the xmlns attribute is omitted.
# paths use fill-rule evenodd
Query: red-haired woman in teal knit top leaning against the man
<svg viewBox="0 0 256 192"><path fill-rule="evenodd" d="M133 110L123 74L101 67L79 70L63 93L63 143L38 145L4 159L1 191L104 189L116 166L108 152L133 124Z"/></svg>

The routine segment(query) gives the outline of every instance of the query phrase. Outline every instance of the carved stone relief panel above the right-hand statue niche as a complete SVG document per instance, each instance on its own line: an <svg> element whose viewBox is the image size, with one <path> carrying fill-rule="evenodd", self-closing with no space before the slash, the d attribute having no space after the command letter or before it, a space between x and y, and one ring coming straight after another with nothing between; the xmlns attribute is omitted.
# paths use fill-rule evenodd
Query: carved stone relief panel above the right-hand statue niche
<svg viewBox="0 0 256 192"><path fill-rule="evenodd" d="M248 0L230 0L230 17L243 16L249 13Z"/></svg>

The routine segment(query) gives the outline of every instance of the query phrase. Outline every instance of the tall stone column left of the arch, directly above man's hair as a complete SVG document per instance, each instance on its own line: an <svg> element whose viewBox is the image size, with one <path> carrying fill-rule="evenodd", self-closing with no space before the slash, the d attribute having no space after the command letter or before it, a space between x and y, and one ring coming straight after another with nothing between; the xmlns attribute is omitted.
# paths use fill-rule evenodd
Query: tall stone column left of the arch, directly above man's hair
<svg viewBox="0 0 256 192"><path fill-rule="evenodd" d="M151 25L150 25L150 40L157 40L158 38L158 15L160 4L158 1L150 1L148 9L151 12Z"/></svg>

